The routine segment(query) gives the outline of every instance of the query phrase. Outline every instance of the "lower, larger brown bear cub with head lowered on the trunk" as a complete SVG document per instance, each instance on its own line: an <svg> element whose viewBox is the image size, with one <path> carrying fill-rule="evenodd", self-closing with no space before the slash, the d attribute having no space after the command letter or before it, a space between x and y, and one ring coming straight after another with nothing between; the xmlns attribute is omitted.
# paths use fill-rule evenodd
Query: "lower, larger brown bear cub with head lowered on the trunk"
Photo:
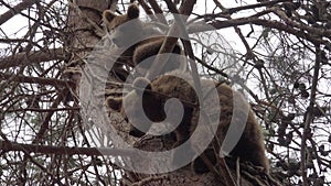
<svg viewBox="0 0 331 186"><path fill-rule="evenodd" d="M179 73L181 76L179 76ZM254 165L261 166L264 167L265 173L268 173L269 164L265 155L261 129L255 119L254 112L249 108L249 105L244 100L243 96L241 96L239 92L234 91L225 84L216 84L213 80L202 79L202 90L206 89L206 85L212 84L216 87L216 94L218 95L216 100L210 100L207 105L217 103L221 108L218 110L220 118L216 118L214 122L210 122L210 120L200 121L199 112L201 110L204 110L211 116L215 113L215 110L213 107L210 107L210 109L204 109L196 106L196 103L199 105L199 98L191 86L194 85L193 79L189 77L190 75L188 75L188 78L184 78L190 79L190 83L183 78L179 78L183 76L182 74L182 72L171 72L153 79L151 83L148 83L148 80L145 78L137 78L134 81L134 86L138 87L138 89L131 90L124 98L108 97L106 103L110 109L121 112L124 117L129 116L130 122L135 123L139 123L137 120L139 120L141 116L135 116L135 113L137 110L141 109L142 106L143 112L150 121L140 122L141 125L139 125L139 129L148 131L152 122L162 121L167 117L164 114L166 101L169 98L178 98L183 103L184 113L181 123L174 130L177 141L179 142L177 144L180 144L190 138L190 135L194 132L197 122L202 121L203 124L207 125L216 123L216 133L209 145L209 149L206 150L207 152L205 152L206 156L213 164L217 163L216 160L221 150L221 144L225 139L231 122L233 122L233 124L237 124L242 120L246 121L244 132L242 136L239 136L238 143L235 144L234 149L227 155L239 157L242 162L250 162ZM146 84L147 86L141 86ZM204 96L207 97L207 95ZM139 97L140 99L138 99ZM234 103L236 107L234 107ZM234 112L238 114L234 114ZM247 120L245 120L245 117L242 117L243 114L248 114ZM234 116L237 118L233 118ZM194 149L194 144L199 143L200 140L205 138L206 136L204 136L204 132L202 132L200 136L195 138L196 141L191 141L192 147ZM197 161L197 158L195 161ZM200 164L193 162L193 166L196 166L194 163Z"/></svg>

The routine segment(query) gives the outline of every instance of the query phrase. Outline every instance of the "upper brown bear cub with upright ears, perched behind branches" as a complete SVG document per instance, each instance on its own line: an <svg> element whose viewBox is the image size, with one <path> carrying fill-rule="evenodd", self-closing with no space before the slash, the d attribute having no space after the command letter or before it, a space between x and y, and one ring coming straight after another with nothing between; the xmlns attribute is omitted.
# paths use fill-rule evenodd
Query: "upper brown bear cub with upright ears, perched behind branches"
<svg viewBox="0 0 331 186"><path fill-rule="evenodd" d="M166 34L154 25L141 21L139 13L138 6L132 3L128 7L126 14L117 15L113 11L106 10L103 13L103 19L110 31L113 43L117 47L124 48L117 63L136 67L143 62L136 69L141 70L136 73L143 76L146 70L151 66L154 55L159 53ZM178 68L185 69L185 64L175 57L175 55L182 55L182 48L179 44L174 46L172 54L162 73Z"/></svg>

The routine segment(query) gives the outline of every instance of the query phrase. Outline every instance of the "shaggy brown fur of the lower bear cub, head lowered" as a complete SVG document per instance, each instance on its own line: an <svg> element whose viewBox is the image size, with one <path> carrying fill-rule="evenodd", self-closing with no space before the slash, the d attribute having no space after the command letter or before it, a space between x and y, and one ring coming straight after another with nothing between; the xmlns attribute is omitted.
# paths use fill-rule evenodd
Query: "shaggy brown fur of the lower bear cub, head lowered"
<svg viewBox="0 0 331 186"><path fill-rule="evenodd" d="M126 116L125 111L122 110L122 105L126 106L126 112L134 114L132 120L139 119L139 116L135 117L136 109L139 108L138 106L141 102L137 102L137 96L142 94L142 108L145 109L145 113L151 121L162 121L164 120L164 111L163 105L167 100L167 96L174 97L183 100L184 103L184 118L180 125L175 129L177 141L181 143L185 141L191 133L194 132L194 129L199 119L199 107L192 107L196 103L196 95L195 91L192 89L190 84L185 80L178 78L173 75L178 75L178 72L172 72L169 75L164 75L158 77L157 79L152 80L150 85L146 88L146 91L138 91L132 90L129 92L122 100L121 99L107 99L107 106L109 108L116 109L121 111L124 116ZM188 79L188 78L185 78ZM189 78L190 79L190 78ZM135 85L141 85L140 81L145 79L138 78L135 81ZM191 81L192 83L192 81ZM215 84L213 80L202 80L202 89L204 85L207 84ZM260 125L255 119L255 116L249 108L249 106L244 101L244 98L239 95L239 92L234 91L231 87L225 84L221 84L216 88L218 94L218 103L221 106L221 114L218 121L218 129L216 132L216 136L211 143L209 150L215 151L218 154L220 144L224 141L225 134L232 121L233 112L244 112L247 111L245 108L249 109L248 119L246 122L246 127L244 130L243 135L241 136L239 142L236 144L235 149L231 152L231 155L234 157L241 157L241 161L248 161L252 162L254 165L263 166L265 172L268 173L269 164L268 160L265 155L265 145L264 145L264 136L260 130ZM152 91L152 92L151 92ZM159 94L153 94L159 92ZM236 96L236 99L233 100L233 95ZM215 100L207 100L207 103L217 103ZM233 108L233 101L239 106L238 108ZM190 106L191 105L191 106ZM136 111L135 111L136 110ZM209 113L213 113L213 109L205 110ZM241 116L241 114L239 114ZM235 118L234 121L241 120L241 118ZM143 123L146 129L149 129L151 123ZM141 134L141 133L140 133ZM199 136L201 139L205 138ZM196 143L199 142L199 138ZM177 144L179 144L177 143ZM194 141L192 144L194 145ZM210 152L207 152L210 154ZM215 162L213 162L215 163Z"/></svg>

